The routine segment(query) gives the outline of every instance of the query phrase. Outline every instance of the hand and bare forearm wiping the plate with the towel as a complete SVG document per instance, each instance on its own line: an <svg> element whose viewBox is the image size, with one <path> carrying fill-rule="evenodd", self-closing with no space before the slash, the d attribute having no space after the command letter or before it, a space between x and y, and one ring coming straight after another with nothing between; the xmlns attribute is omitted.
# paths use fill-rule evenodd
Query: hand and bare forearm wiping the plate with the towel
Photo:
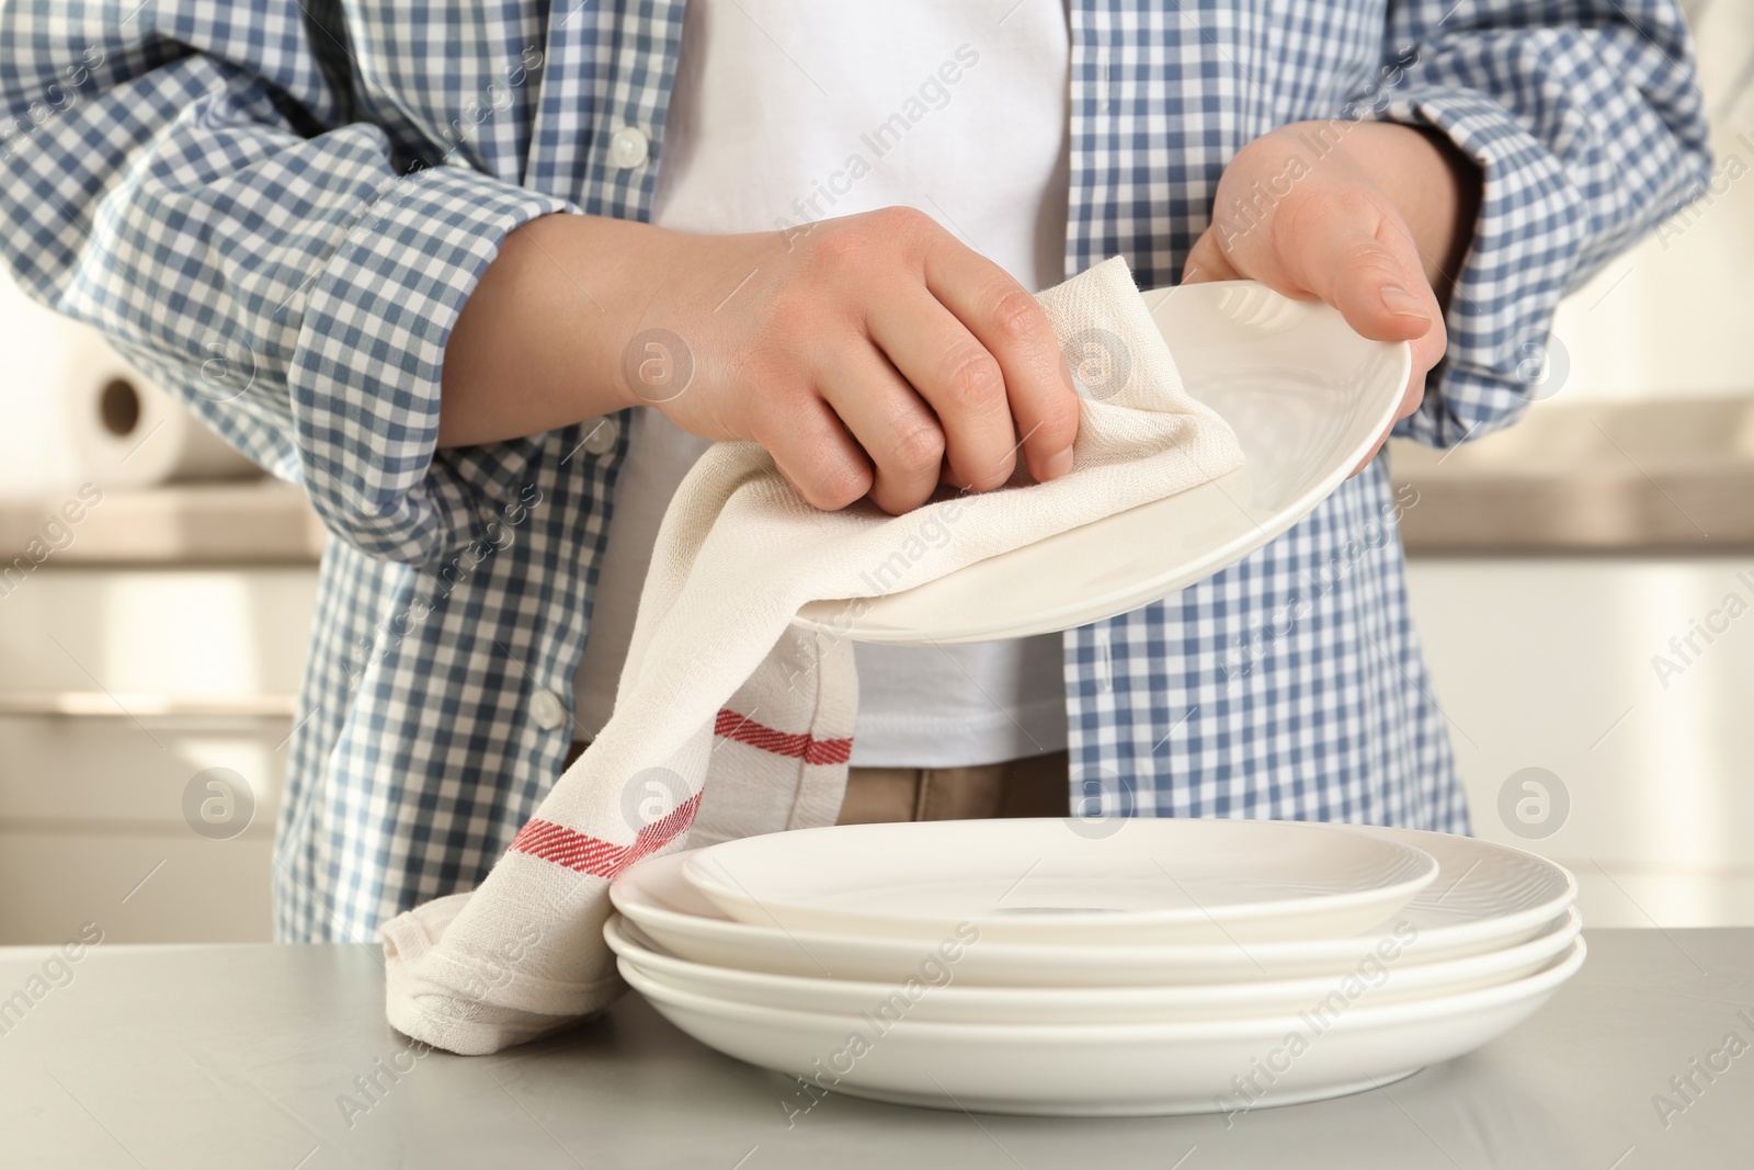
<svg viewBox="0 0 1754 1170"><path fill-rule="evenodd" d="M998 488L1019 449L1058 479L1079 426L1035 296L917 210L749 235L593 216L516 232L447 346L440 442L642 402L759 442L819 509Z"/></svg>

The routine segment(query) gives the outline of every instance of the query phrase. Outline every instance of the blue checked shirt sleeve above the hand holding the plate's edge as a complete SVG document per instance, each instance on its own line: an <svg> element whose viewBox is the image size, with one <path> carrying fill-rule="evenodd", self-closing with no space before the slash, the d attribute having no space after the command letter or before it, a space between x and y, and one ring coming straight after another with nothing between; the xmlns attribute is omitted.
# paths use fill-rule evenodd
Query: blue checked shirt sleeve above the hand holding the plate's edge
<svg viewBox="0 0 1754 1170"><path fill-rule="evenodd" d="M1693 47L1670 0L1391 5L1366 116L1433 126L1480 165L1449 354L1396 433L1452 446L1535 398L1559 298L1710 177Z"/></svg>

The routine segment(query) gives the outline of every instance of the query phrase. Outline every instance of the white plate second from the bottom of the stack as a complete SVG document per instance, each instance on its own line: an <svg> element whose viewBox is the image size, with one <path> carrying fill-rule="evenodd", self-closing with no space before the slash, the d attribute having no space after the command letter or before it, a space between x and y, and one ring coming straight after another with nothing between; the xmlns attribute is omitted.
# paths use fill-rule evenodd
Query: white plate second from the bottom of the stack
<svg viewBox="0 0 1754 1170"><path fill-rule="evenodd" d="M1459 995L1533 975L1572 944L1582 924L1572 907L1528 942L1459 960L1417 963L1410 958L1417 940L1403 945L1391 937L1380 952L1361 958L1340 975L1168 988L963 986L947 956L930 967L923 963L924 970L910 981L889 984L770 975L665 954L619 914L603 924L603 938L621 956L623 968L633 967L665 986L735 1003L849 1016L893 1012L963 1024L1119 1024L1289 1016L1337 993L1347 996L1347 1003L1359 993L1358 1002L1370 1007Z"/></svg>

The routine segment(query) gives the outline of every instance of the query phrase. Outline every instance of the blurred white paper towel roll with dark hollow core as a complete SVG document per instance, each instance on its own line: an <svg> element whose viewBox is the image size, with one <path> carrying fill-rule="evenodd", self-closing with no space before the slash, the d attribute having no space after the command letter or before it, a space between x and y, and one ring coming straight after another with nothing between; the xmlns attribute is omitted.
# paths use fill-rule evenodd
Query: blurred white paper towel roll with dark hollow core
<svg viewBox="0 0 1754 1170"><path fill-rule="evenodd" d="M261 475L107 346L91 346L68 365L61 400L81 474L102 488Z"/></svg>

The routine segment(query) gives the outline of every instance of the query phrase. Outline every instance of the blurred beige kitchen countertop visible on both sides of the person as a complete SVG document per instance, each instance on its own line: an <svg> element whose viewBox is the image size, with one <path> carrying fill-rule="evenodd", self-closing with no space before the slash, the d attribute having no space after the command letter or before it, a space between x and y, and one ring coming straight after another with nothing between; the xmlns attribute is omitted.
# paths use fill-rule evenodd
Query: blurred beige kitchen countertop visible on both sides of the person
<svg viewBox="0 0 1754 1170"><path fill-rule="evenodd" d="M1754 549L1754 398L1542 402L1461 447L1393 440L1389 472L1412 556ZM0 549L44 539L68 498L0 500ZM303 493L272 479L111 489L53 563L314 565L323 540Z"/></svg>

